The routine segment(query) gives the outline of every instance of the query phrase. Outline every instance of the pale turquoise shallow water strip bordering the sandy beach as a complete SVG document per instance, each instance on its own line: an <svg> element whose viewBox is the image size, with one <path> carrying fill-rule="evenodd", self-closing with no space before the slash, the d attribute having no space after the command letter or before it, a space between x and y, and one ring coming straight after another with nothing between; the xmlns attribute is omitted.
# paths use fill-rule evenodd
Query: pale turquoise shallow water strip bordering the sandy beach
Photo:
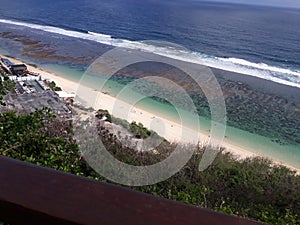
<svg viewBox="0 0 300 225"><path fill-rule="evenodd" d="M62 77L71 79L76 82L80 82L83 72L76 69L68 68L59 65L42 65L43 68L58 73ZM88 84L90 87L99 90L99 86L103 84L104 80L99 77L93 77L86 79L82 83ZM107 92L112 96L116 96L123 88L123 85L115 81L108 81L102 92ZM132 101L132 99L140 98L140 94L136 92L131 92L129 95L122 96L121 99L125 101ZM144 98L138 101L136 106L147 110L149 112L155 113L159 116L165 117L174 122L180 123L180 118L178 112L174 107L168 104L163 104L161 102L155 101L150 98ZM181 111L185 118L191 117L191 113L187 111ZM192 117L191 117L192 118ZM195 121L189 121L188 126L193 128ZM199 117L200 130L205 133L209 133L211 121L205 117ZM234 144L238 143L238 146L242 146L246 149L251 149L252 152L261 154L268 158L287 163L294 167L300 168L300 151L297 145L280 145L278 143L272 142L270 138L256 135L247 131L243 131L234 127L227 126L225 140Z"/></svg>

